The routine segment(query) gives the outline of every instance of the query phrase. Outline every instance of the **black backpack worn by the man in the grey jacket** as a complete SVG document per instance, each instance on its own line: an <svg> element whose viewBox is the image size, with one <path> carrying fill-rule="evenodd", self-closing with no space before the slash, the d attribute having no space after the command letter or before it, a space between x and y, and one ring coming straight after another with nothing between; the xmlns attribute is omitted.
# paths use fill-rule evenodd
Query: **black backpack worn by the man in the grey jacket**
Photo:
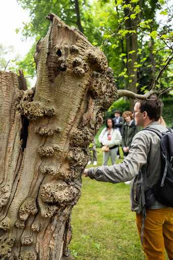
<svg viewBox="0 0 173 260"><path fill-rule="evenodd" d="M154 132L160 137L160 152L161 152L161 177L159 182L152 186L147 176L140 169L141 175L141 194L142 194L142 208L143 208L143 223L141 242L143 245L144 233L144 219L146 218L146 209L157 200L162 204L173 208L173 131L166 127L167 132L160 132L156 128L148 127L143 130ZM142 131L143 131L142 130ZM150 188L144 190L145 182Z"/></svg>

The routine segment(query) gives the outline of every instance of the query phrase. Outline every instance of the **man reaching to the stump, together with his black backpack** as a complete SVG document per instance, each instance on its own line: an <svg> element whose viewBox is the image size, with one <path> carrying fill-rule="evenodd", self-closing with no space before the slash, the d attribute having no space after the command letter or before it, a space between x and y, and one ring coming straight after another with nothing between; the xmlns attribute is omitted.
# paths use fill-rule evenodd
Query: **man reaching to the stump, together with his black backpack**
<svg viewBox="0 0 173 260"><path fill-rule="evenodd" d="M173 133L158 122L162 106L155 95L135 101L134 120L144 129L133 137L127 157L119 165L84 171L97 181L132 180L130 206L149 260L165 260L164 248L173 259Z"/></svg>

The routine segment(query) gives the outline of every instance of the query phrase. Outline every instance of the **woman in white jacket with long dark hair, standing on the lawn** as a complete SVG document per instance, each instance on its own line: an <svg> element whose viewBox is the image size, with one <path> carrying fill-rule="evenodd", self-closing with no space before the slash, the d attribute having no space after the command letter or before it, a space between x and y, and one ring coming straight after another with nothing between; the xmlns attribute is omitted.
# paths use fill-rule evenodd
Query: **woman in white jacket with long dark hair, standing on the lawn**
<svg viewBox="0 0 173 260"><path fill-rule="evenodd" d="M118 145L121 144L121 134L120 131L115 129L114 121L112 118L106 119L107 127L105 127L98 137L101 145L108 145L109 151L103 152L103 164L107 165L109 157L111 155L112 165L115 165L115 159L118 151Z"/></svg>

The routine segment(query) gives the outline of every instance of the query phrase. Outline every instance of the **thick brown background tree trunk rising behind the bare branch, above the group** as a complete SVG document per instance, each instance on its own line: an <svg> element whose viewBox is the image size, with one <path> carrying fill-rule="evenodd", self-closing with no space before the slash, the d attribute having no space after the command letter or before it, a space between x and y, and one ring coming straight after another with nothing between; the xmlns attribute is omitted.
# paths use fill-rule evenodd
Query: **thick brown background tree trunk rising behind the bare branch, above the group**
<svg viewBox="0 0 173 260"><path fill-rule="evenodd" d="M133 6L133 3L130 3L130 0L125 0L125 4ZM133 14L129 9L124 8L125 17L129 17L129 19L125 20L125 29L126 30L137 30L137 24L139 23L139 17L136 16L135 19L131 19L130 15ZM126 34L126 49L127 49L127 58L131 59L131 61L127 62L127 72L129 80L129 90L137 93L136 83L137 83L137 71L134 71L134 63L137 62L137 31L136 33L132 32L131 34ZM130 53L130 51L135 51ZM133 75L133 76L132 76ZM134 100L129 99L130 111L134 108Z"/></svg>

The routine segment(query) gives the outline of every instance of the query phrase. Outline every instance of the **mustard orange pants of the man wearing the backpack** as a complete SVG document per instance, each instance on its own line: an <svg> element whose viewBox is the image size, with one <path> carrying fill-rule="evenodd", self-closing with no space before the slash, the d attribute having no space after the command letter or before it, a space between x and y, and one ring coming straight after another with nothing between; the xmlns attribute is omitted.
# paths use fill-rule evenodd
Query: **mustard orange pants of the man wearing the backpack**
<svg viewBox="0 0 173 260"><path fill-rule="evenodd" d="M144 220L143 250L148 260L173 260L173 208L147 209ZM136 213L136 224L141 239L142 213Z"/></svg>

